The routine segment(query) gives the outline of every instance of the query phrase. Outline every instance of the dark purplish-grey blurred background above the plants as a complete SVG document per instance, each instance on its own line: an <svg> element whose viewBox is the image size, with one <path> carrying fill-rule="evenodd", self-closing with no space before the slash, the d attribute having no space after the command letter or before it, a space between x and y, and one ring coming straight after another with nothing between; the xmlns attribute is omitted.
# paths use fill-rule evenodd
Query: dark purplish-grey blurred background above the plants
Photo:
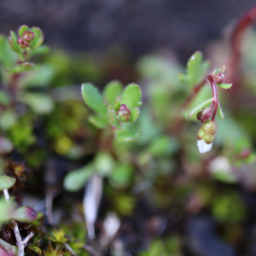
<svg viewBox="0 0 256 256"><path fill-rule="evenodd" d="M22 24L39 26L45 43L54 48L105 52L118 46L137 58L164 47L185 63L253 4L254 0L1 0L0 33Z"/></svg>

